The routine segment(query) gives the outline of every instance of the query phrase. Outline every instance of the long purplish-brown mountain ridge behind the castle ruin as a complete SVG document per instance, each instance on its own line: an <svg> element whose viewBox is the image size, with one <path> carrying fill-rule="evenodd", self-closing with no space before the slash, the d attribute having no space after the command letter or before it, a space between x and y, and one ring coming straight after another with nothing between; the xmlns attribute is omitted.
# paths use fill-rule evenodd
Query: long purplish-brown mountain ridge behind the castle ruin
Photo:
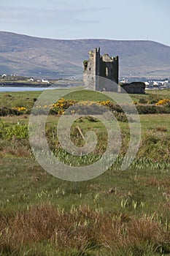
<svg viewBox="0 0 170 256"><path fill-rule="evenodd" d="M170 47L152 41L45 39L0 32L0 74L60 78L82 75L88 50L120 57L120 76L170 78Z"/></svg>

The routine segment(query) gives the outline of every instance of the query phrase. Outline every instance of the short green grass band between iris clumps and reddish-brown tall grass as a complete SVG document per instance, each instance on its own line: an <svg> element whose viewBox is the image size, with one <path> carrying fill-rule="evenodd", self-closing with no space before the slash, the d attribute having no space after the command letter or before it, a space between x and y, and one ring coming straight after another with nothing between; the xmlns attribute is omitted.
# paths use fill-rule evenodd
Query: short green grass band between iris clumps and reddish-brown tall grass
<svg viewBox="0 0 170 256"><path fill-rule="evenodd" d="M84 205L93 211L123 211L137 217L155 212L161 217L163 203L169 202L169 169L145 164L150 172L136 162L125 171L113 165L98 178L71 182L50 176L31 159L1 159L1 211L15 214L35 204L52 203L67 212Z"/></svg>

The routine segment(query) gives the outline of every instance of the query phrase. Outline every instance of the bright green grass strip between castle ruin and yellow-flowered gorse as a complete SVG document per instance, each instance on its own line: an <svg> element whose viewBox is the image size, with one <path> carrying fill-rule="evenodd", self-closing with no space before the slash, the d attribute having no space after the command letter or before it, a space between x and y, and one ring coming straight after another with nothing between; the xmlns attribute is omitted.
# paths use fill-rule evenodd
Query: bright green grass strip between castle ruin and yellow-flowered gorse
<svg viewBox="0 0 170 256"><path fill-rule="evenodd" d="M106 92L105 94L103 94L98 93L97 91L86 91L82 90L82 88L79 87L77 87L75 91L71 93L70 91L72 91L72 89L56 89L55 91L57 91L57 95L66 94L66 96L64 96L65 99L76 99L78 101L104 101L110 99L110 97L112 100L112 96L115 95L112 92ZM34 101L36 100L36 98L39 97L41 93L42 91L18 91L9 93L2 92L0 94L0 106L5 106L7 108L23 106L31 109L34 105ZM50 93L53 94L53 91L50 91ZM139 102L139 99L170 99L170 90L161 90L158 91L157 94L153 94L152 91L147 91L146 94L131 94L131 98L133 101L137 102Z"/></svg>

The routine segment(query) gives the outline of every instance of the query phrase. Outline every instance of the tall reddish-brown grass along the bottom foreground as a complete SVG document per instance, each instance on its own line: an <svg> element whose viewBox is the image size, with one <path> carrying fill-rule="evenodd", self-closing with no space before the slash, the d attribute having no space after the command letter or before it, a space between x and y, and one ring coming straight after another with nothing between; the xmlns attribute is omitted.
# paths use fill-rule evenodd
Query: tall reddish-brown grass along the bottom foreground
<svg viewBox="0 0 170 256"><path fill-rule="evenodd" d="M128 214L109 214L88 207L73 208L69 213L50 204L32 206L25 212L1 216L1 255L34 255L35 247L44 244L56 253L68 255L144 255L161 253L169 244L170 230L155 217L139 219ZM46 251L46 253L45 253ZM26 251L25 251L26 252ZM102 254L99 254L102 255ZM130 255L130 254L129 254ZM161 255L161 254L160 254Z"/></svg>

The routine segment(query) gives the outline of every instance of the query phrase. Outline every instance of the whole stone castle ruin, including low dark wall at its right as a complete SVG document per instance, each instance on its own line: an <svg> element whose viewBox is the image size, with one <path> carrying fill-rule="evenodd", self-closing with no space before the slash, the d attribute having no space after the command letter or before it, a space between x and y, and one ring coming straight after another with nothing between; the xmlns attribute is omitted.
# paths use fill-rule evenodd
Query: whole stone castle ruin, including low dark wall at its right
<svg viewBox="0 0 170 256"><path fill-rule="evenodd" d="M89 59L83 61L83 82L85 89L93 91L126 91L128 93L143 94L144 83L126 83L118 85L119 58L110 57L108 53L101 56L100 48L89 50ZM107 78L107 79L104 79ZM110 83L110 80L112 82ZM113 83L115 82L115 83ZM123 88L123 90L121 90Z"/></svg>

